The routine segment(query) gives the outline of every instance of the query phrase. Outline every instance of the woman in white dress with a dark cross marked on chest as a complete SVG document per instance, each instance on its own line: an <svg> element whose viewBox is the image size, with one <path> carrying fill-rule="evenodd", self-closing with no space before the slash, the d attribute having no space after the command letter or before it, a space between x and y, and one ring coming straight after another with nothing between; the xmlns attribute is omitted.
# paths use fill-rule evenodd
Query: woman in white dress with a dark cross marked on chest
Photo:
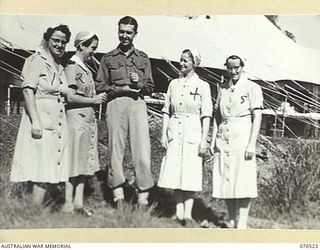
<svg viewBox="0 0 320 250"><path fill-rule="evenodd" d="M202 190L202 158L212 116L209 84L200 80L195 68L200 55L194 49L182 52L181 77L169 87L163 111L163 158L158 186L174 189L175 219L192 226L195 192Z"/></svg>

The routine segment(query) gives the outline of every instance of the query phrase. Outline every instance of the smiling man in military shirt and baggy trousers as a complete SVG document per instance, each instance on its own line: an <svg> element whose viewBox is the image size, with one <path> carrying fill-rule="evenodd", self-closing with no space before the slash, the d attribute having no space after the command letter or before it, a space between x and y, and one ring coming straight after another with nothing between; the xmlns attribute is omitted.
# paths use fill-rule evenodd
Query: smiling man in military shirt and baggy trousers
<svg viewBox="0 0 320 250"><path fill-rule="evenodd" d="M124 200L123 158L127 136L139 189L138 203L148 204L154 182L150 171L150 138L144 95L153 91L151 65L148 56L133 46L138 23L125 16L118 23L118 47L103 56L97 75L96 90L106 91L106 119L111 166L108 186L113 189L114 201L121 208Z"/></svg>

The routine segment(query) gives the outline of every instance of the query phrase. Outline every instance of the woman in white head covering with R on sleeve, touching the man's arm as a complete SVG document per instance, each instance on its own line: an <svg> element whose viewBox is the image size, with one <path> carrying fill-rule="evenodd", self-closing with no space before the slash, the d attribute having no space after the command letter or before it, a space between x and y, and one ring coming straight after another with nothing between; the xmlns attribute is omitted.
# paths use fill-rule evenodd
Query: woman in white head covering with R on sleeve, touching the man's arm
<svg viewBox="0 0 320 250"><path fill-rule="evenodd" d="M106 100L106 94L96 95L92 73L87 63L98 47L93 32L79 32L74 41L77 49L65 68L69 91L67 122L69 136L69 181L66 183L65 212L90 216L83 206L84 184L88 176L100 169L98 157L98 128L94 105Z"/></svg>

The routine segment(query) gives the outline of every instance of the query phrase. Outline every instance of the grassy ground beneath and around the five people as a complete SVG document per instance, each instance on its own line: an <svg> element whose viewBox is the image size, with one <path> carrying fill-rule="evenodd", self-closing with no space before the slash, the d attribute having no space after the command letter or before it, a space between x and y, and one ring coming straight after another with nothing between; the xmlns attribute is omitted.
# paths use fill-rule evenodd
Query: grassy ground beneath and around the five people
<svg viewBox="0 0 320 250"><path fill-rule="evenodd" d="M147 212L135 209L136 190L132 183L134 175L131 156L126 152L124 160L127 201L124 212L118 212L110 203L110 190L106 188L106 166L109 164L106 152L107 134L105 122L99 122L99 153L102 170L87 183L86 205L94 209L94 215L84 218L79 214L64 214L60 211L63 204L63 187L51 190L45 207L31 205L30 192L27 184L9 182L10 166L14 152L17 127L20 116L7 117L0 115L0 228L172 228L181 227L170 220L174 213L172 194L168 190L154 189L151 193L152 207ZM164 151L160 147L159 136L161 120L150 122L152 146L151 170L155 180L158 179L160 162ZM277 145L277 146L275 146ZM270 182L278 178L274 173L280 151L289 147L286 142L278 139L260 138L258 147L258 183L259 197L254 201L249 226L264 229L320 229L319 199L300 206L290 205L290 209L279 210L271 206L266 194L274 185ZM281 150L279 150L281 148ZM318 164L318 163L312 163ZM223 201L211 198L212 163L204 164L203 192L195 201L193 216L200 224L209 227L223 227L226 218L226 207ZM279 181L278 181L279 182ZM270 183L270 184L269 184ZM269 190L270 189L270 190ZM281 186L280 186L281 189ZM274 188L272 189L273 192ZM275 195L277 193L274 193ZM313 196L316 197L316 196ZM281 198L281 197L280 197ZM270 198L271 199L271 198ZM286 199L286 197L284 197ZM281 203L281 202L280 202ZM285 206L285 205L284 205Z"/></svg>

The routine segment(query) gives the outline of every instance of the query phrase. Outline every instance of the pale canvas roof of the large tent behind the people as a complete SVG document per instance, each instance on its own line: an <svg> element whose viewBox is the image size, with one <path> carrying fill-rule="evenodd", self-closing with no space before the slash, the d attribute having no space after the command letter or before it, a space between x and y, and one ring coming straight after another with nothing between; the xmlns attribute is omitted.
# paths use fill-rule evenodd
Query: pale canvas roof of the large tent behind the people
<svg viewBox="0 0 320 250"><path fill-rule="evenodd" d="M93 30L100 39L98 52L118 44L120 16L0 15L0 37L15 48L34 50L42 33L51 26L67 24L73 38L81 30ZM183 49L200 51L202 66L224 68L225 58L239 54L246 71L255 79L298 80L320 84L320 51L294 43L264 16L199 16L187 19L173 16L136 16L137 48L149 57L179 61Z"/></svg>

